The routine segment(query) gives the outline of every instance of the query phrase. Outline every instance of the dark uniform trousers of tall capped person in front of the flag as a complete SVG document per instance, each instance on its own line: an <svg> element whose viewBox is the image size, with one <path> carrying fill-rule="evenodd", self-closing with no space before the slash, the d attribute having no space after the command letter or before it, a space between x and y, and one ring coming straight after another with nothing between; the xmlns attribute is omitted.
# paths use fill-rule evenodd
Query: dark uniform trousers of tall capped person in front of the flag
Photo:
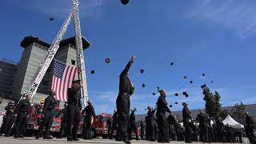
<svg viewBox="0 0 256 144"><path fill-rule="evenodd" d="M77 138L79 120L80 120L79 106L73 103L70 103L67 106L67 122L66 122L66 134L68 139Z"/></svg>

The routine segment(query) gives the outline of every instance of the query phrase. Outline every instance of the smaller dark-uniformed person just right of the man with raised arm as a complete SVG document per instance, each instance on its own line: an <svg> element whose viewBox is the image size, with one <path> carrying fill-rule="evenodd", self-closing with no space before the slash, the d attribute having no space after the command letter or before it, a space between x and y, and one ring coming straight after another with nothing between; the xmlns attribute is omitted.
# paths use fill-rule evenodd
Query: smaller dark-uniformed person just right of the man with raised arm
<svg viewBox="0 0 256 144"><path fill-rule="evenodd" d="M136 126L136 122L135 122L135 111L136 108L134 107L134 109L130 110L130 118L129 118L129 124L128 124L128 139L132 140L132 132L134 131L135 135L136 135L136 140L139 140L138 138L138 129Z"/></svg>

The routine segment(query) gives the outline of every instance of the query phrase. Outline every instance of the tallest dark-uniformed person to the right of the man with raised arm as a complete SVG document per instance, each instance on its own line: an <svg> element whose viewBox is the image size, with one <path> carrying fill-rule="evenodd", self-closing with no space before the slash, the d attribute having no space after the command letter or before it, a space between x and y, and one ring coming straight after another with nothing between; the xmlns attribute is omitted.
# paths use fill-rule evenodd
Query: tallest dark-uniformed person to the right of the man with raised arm
<svg viewBox="0 0 256 144"><path fill-rule="evenodd" d="M158 98L157 104L157 120L158 120L158 142L170 142L169 140L169 126L166 119L166 111L171 113L169 107L166 102L166 90L159 90L160 96Z"/></svg>

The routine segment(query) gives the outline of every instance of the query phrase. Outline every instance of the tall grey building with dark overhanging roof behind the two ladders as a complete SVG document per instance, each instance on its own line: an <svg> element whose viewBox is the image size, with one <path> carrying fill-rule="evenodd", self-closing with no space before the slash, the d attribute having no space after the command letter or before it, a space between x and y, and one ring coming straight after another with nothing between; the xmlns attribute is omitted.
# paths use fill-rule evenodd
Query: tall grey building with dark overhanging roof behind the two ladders
<svg viewBox="0 0 256 144"><path fill-rule="evenodd" d="M20 98L20 94L25 93L30 88L38 72L42 58L46 56L50 44L39 38L28 36L22 40L21 46L24 48L24 51L18 63L17 73L15 74L12 85L12 96L16 99ZM82 38L83 50L86 50L89 46L90 43L86 41L86 38ZM77 66L75 38L72 37L62 40L54 58L67 65ZM44 78L42 78L42 82L38 86L37 94L35 94L32 102L39 102L41 98L46 98L48 95L52 82L53 66L54 63L52 62Z"/></svg>

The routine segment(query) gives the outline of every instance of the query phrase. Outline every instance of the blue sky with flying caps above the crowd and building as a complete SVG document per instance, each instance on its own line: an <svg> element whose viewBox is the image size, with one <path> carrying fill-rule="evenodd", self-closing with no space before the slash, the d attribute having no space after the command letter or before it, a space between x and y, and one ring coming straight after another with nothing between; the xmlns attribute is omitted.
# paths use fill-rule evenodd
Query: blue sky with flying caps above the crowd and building
<svg viewBox="0 0 256 144"><path fill-rule="evenodd" d="M256 102L255 1L130 0L127 6L119 0L80 1L82 35L92 44L85 51L88 91L97 114L114 110L118 76L131 54L137 56L130 69L135 85L131 107L137 107L138 114L145 113L146 106L155 106L158 97L152 93L157 86L167 90L172 110L182 110L181 102L190 102L191 109L204 107L199 87L204 83L213 92L218 90L223 106ZM70 12L70 3L2 0L0 58L18 62L20 42L28 35L52 42ZM50 17L55 20L50 22ZM73 35L71 24L65 38ZM105 58L111 59L110 64ZM145 74L139 73L142 68ZM182 96L184 90L189 98ZM177 92L181 96L175 97Z"/></svg>

